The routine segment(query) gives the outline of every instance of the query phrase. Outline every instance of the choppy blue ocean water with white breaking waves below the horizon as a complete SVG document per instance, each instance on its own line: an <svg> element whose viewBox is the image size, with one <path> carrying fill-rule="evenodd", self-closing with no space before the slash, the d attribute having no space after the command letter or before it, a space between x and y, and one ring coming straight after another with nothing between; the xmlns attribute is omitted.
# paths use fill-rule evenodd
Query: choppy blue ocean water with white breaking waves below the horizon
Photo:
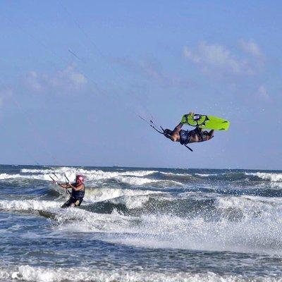
<svg viewBox="0 0 282 282"><path fill-rule="evenodd" d="M80 208L48 173L85 176ZM282 171L2 165L0 281L282 281L281 196Z"/></svg>

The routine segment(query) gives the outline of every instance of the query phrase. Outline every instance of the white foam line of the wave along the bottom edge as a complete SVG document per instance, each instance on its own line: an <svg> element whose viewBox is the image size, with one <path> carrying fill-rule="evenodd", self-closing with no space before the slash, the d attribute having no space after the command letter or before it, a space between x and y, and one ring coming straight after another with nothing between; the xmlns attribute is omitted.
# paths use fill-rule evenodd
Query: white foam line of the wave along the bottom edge
<svg viewBox="0 0 282 282"><path fill-rule="evenodd" d="M42 266L22 265L13 269L0 269L3 280L61 282L61 281L92 281L92 282L243 282L250 279L240 275L219 275L213 272L192 274L189 272L171 273L168 271L125 271L115 269L111 271L91 269L89 267L47 268ZM274 277L256 277L257 281L281 281Z"/></svg>

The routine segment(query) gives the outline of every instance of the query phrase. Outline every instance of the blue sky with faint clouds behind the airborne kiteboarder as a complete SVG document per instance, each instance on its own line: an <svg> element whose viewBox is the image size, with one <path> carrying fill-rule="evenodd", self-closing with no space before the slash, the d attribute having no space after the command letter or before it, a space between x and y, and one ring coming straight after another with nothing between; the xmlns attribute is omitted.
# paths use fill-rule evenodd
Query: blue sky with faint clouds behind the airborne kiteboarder
<svg viewBox="0 0 282 282"><path fill-rule="evenodd" d="M280 1L1 1L1 164L281 169ZM231 128L194 152L193 110Z"/></svg>

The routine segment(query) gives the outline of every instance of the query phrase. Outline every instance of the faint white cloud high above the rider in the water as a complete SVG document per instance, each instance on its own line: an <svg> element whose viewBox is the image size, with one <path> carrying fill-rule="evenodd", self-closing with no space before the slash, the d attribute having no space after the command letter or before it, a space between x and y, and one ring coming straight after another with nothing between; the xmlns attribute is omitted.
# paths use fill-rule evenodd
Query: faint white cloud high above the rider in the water
<svg viewBox="0 0 282 282"><path fill-rule="evenodd" d="M54 74L37 73L30 71L24 79L25 85L34 92L49 90L50 87L59 90L80 90L87 83L85 75L68 66L63 71Z"/></svg>

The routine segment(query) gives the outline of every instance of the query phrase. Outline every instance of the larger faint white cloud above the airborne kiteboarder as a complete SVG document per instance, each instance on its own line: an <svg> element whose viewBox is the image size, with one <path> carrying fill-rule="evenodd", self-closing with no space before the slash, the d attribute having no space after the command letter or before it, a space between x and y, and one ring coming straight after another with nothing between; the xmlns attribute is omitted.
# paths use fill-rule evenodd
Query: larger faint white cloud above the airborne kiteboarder
<svg viewBox="0 0 282 282"><path fill-rule="evenodd" d="M254 74L247 60L236 58L236 56L231 54L231 51L220 44L201 42L197 51L192 52L188 47L184 47L183 54L186 59L199 65L203 71Z"/></svg>

